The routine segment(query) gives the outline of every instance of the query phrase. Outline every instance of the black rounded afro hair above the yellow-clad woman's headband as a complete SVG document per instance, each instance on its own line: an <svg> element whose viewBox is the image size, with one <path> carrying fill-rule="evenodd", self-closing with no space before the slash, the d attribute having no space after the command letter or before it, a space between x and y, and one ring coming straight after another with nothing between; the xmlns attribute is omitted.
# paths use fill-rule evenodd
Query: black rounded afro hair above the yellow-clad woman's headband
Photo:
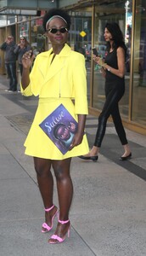
<svg viewBox="0 0 146 256"><path fill-rule="evenodd" d="M46 15L44 15L43 20L42 20L42 26L45 31L46 31L46 23L54 15L59 15L59 16L63 17L67 22L67 29L70 30L70 24L71 24L70 15L68 15L68 13L64 9L50 9L46 13Z"/></svg>

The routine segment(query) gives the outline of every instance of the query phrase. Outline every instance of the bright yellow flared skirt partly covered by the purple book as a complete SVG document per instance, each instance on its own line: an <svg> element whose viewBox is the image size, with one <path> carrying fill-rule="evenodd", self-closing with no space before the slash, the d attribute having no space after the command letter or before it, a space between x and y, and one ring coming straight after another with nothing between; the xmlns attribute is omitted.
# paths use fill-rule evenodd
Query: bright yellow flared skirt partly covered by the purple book
<svg viewBox="0 0 146 256"><path fill-rule="evenodd" d="M77 121L75 106L70 98L40 98L35 118L25 140L25 154L49 160L64 160L81 154L87 154L89 148L86 134L84 134L83 140L79 146L68 151L66 154L62 154L59 148L55 146L39 126L55 108L59 107L61 103Z"/></svg>

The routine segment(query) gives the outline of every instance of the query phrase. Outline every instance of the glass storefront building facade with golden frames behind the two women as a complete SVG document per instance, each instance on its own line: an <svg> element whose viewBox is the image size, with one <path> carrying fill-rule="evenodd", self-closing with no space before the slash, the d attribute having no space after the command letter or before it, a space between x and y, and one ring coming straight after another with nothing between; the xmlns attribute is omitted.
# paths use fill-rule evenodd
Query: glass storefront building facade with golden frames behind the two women
<svg viewBox="0 0 146 256"><path fill-rule="evenodd" d="M48 6L47 1L42 2ZM146 134L146 1L53 0L48 2L48 8L63 8L71 15L69 44L72 49L85 56L89 113L93 115L98 115L104 105L104 78L98 66L93 64L91 49L93 46L96 47L99 55L104 57L105 24L114 21L121 26L128 53L125 76L126 93L120 102L121 117L125 127ZM50 44L42 29L42 16L47 8L38 6L36 9L40 11L40 16L0 15L0 18L2 17L0 44L8 34L13 34L16 43L19 42L21 36L27 38L36 54L49 49ZM0 73L4 72L3 52L1 51Z"/></svg>

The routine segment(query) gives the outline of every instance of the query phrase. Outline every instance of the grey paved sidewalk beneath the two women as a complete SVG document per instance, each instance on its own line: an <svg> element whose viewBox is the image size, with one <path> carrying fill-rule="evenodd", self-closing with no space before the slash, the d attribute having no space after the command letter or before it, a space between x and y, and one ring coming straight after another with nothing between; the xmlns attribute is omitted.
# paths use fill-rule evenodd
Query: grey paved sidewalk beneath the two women
<svg viewBox="0 0 146 256"><path fill-rule="evenodd" d="M0 255L2 256L142 256L146 255L146 137L126 130L132 159L121 162L115 128L108 123L98 162L74 158L74 198L70 238L49 245L42 234L42 198L33 160L23 143L37 99L5 92L0 76ZM87 116L92 147L98 119ZM56 187L54 203L58 206Z"/></svg>

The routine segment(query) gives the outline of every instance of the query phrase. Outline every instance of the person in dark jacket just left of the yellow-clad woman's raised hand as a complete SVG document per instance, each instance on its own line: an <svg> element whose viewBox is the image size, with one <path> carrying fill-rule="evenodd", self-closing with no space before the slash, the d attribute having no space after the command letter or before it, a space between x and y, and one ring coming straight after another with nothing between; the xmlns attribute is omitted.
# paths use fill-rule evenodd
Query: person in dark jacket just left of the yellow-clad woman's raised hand
<svg viewBox="0 0 146 256"><path fill-rule="evenodd" d="M19 63L21 76L22 76L22 70L23 70L22 56L25 54L26 51L30 49L31 49L31 45L28 43L28 41L24 37L20 38L20 43L17 44L14 49L14 54L18 56L18 63Z"/></svg>

